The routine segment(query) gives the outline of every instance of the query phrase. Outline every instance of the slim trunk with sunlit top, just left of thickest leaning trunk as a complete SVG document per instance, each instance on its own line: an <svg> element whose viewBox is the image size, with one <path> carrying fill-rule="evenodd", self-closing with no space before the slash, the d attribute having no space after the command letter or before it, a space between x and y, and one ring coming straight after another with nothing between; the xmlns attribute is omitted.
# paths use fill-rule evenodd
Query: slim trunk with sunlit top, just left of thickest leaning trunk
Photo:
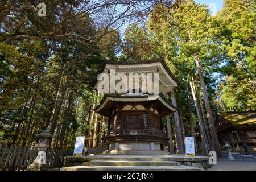
<svg viewBox="0 0 256 182"><path fill-rule="evenodd" d="M195 104L195 107L196 107L196 114L197 114L197 118L198 118L198 122L199 122L201 147L202 147L202 150L203 150L203 154L208 155L207 142L206 142L206 138L205 138L205 134L204 134L203 122L202 122L202 119L201 119L200 109L199 109L199 105L198 105L197 98L196 98L195 88L194 88L192 79L189 82L190 82L192 96L193 96L194 104Z"/></svg>

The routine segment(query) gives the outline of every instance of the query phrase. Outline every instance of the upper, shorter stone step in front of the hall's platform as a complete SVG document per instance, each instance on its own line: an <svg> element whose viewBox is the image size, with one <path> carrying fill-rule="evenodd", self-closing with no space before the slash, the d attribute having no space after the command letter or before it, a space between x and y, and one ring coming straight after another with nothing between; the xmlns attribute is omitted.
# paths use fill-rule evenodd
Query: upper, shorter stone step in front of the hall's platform
<svg viewBox="0 0 256 182"><path fill-rule="evenodd" d="M176 161L155 160L91 160L82 163L82 166L180 166Z"/></svg>

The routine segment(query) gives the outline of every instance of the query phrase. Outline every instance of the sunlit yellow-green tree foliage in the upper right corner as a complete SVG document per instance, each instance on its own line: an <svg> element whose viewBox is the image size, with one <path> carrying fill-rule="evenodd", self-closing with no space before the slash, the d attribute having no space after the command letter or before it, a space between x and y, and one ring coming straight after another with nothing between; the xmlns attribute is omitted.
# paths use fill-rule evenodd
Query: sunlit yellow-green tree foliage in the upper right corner
<svg viewBox="0 0 256 182"><path fill-rule="evenodd" d="M224 1L224 9L217 15L224 49L229 60L241 61L255 78L255 1ZM218 28L218 27L217 27Z"/></svg>

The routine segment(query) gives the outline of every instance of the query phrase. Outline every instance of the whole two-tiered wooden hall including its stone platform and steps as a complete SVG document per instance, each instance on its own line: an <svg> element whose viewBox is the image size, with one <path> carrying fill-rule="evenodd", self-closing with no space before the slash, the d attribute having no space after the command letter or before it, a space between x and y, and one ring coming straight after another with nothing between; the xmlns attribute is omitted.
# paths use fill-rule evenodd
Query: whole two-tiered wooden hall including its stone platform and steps
<svg viewBox="0 0 256 182"><path fill-rule="evenodd" d="M100 73L94 88L104 90L105 94L94 111L108 118L108 131L102 138L106 150L93 156L66 157L66 167L61 170L200 170L209 167L208 156L175 155L167 150L170 139L162 119L177 108L165 95L177 86L177 80L163 59L106 62ZM129 86L119 84L118 87L119 82Z"/></svg>

